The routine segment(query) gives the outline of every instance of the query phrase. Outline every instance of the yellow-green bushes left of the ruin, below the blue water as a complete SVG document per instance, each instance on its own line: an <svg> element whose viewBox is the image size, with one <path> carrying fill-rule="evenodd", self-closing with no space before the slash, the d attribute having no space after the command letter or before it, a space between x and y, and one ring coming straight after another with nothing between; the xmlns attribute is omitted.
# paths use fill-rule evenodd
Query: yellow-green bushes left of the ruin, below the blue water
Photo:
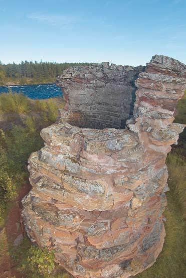
<svg viewBox="0 0 186 278"><path fill-rule="evenodd" d="M60 107L62 104L54 99L33 101L12 92L0 95L2 116L10 112L24 114L22 125L12 124L6 131L0 129L0 224L7 202L16 197L28 179L30 154L44 145L40 130L56 121Z"/></svg>

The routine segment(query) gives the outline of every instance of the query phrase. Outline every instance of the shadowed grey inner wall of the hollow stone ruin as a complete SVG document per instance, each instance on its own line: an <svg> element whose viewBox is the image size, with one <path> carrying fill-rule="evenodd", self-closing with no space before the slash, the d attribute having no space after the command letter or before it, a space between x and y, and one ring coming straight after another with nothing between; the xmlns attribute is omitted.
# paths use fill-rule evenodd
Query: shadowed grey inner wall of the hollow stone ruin
<svg viewBox="0 0 186 278"><path fill-rule="evenodd" d="M113 69L112 65L80 67L77 73L73 71L71 79L65 79L63 89L68 96L70 124L96 129L125 128L126 120L133 115L135 80L144 67Z"/></svg>

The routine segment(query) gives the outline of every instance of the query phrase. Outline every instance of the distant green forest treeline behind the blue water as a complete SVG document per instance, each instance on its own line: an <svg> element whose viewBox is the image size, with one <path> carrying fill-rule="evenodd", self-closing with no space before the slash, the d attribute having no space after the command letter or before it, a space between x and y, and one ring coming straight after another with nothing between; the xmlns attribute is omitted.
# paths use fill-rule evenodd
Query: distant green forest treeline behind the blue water
<svg viewBox="0 0 186 278"><path fill-rule="evenodd" d="M90 63L55 63L43 62L33 63L25 61L21 64L0 63L0 85L6 83L24 84L41 84L53 83L56 77L62 74L63 70L71 66L89 65Z"/></svg>

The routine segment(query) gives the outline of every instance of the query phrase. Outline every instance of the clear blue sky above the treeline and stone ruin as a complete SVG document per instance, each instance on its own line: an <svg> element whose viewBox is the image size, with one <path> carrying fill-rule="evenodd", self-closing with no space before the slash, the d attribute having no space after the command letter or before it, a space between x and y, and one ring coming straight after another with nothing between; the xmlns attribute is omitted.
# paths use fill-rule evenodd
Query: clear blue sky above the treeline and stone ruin
<svg viewBox="0 0 186 278"><path fill-rule="evenodd" d="M0 0L0 60L186 64L186 0Z"/></svg>

